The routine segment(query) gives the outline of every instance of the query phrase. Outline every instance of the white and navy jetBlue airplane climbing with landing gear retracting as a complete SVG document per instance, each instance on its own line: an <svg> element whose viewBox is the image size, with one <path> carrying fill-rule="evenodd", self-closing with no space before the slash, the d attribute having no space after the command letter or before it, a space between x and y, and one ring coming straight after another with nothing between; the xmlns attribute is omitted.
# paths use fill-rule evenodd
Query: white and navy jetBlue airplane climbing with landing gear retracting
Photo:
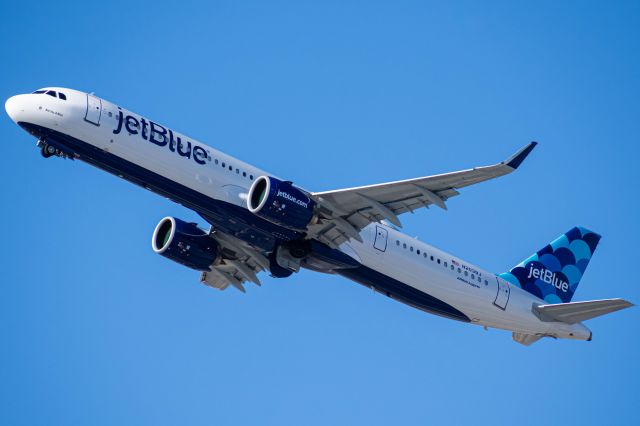
<svg viewBox="0 0 640 426"><path fill-rule="evenodd" d="M459 189L516 170L531 142L500 163L347 189L312 192L93 93L46 87L12 96L9 117L37 138L43 157L80 160L198 213L209 225L165 217L153 250L200 272L212 288L245 292L262 271L337 274L442 317L543 337L587 340L585 320L633 306L573 302L600 240L576 226L495 274L401 233L399 216L447 209Z"/></svg>

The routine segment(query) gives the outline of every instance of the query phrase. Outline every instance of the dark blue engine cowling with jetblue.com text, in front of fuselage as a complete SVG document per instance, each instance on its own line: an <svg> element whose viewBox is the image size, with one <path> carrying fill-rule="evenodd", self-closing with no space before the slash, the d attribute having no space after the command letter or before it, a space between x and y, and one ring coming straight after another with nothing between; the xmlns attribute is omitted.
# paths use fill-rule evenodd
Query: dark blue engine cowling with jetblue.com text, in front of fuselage
<svg viewBox="0 0 640 426"><path fill-rule="evenodd" d="M313 218L315 202L291 182L260 176L249 189L247 207L269 222L304 232Z"/></svg>

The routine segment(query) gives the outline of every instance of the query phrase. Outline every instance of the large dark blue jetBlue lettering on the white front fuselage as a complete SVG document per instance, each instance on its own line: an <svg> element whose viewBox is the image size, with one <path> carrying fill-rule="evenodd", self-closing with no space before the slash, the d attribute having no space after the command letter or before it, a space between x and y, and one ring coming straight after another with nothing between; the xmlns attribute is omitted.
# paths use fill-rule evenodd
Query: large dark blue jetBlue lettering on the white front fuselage
<svg viewBox="0 0 640 426"><path fill-rule="evenodd" d="M191 144L191 142L182 142L180 136L174 137L171 129L165 129L163 126L153 121L145 120L140 117L138 120L132 115L124 115L122 110L118 110L118 125L113 130L114 134L119 134L124 127L131 135L140 133L142 139L154 143L158 146L169 145L169 151L177 152L178 155L185 158L192 158L198 164L205 164L207 160L207 151L201 146ZM142 129L140 126L142 125ZM168 136L167 136L168 133Z"/></svg>

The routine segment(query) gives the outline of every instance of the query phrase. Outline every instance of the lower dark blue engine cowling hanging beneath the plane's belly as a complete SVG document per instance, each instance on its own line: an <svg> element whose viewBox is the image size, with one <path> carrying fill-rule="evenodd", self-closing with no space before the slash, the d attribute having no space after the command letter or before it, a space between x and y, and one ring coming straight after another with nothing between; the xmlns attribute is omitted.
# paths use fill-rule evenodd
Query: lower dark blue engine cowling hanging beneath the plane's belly
<svg viewBox="0 0 640 426"><path fill-rule="evenodd" d="M153 251L197 271L208 271L220 252L218 243L193 223L165 217L151 239Z"/></svg>

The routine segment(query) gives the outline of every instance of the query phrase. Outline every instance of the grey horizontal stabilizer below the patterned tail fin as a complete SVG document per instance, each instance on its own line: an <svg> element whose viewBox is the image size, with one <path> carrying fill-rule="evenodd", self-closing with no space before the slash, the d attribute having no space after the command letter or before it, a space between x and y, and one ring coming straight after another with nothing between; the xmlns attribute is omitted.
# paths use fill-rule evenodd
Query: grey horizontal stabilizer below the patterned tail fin
<svg viewBox="0 0 640 426"><path fill-rule="evenodd" d="M575 324L633 306L623 299L590 300L588 302L556 303L533 306L540 321L560 321Z"/></svg>

